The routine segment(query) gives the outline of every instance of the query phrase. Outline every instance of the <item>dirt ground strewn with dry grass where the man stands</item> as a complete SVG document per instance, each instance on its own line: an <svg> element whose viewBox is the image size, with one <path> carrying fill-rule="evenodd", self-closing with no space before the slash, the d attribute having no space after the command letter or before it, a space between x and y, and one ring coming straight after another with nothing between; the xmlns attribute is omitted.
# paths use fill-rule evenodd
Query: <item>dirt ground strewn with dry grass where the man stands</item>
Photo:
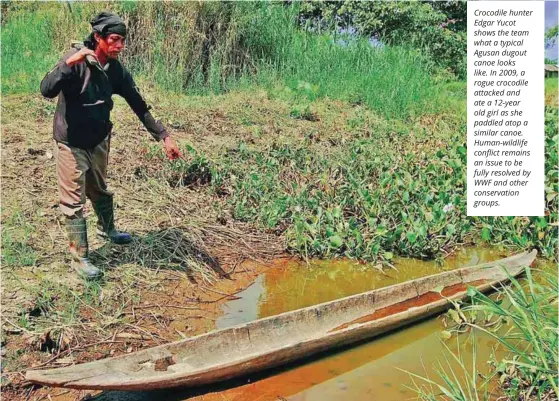
<svg viewBox="0 0 559 401"><path fill-rule="evenodd" d="M241 140L257 146L269 135L297 140L309 124L316 129L316 122L290 119L287 106L265 93L193 99L149 92L147 98L181 149L192 146L207 157ZM86 398L93 392L32 386L24 373L212 330L221 305L269 268L269 261L285 255L280 235L233 220L227 204L207 187L170 185L160 144L119 99L112 116L109 186L116 194L118 227L135 240L125 247L94 237L96 219L88 203L92 259L105 276L82 281L70 268L57 205L54 109L54 101L40 95L2 100L5 400Z"/></svg>

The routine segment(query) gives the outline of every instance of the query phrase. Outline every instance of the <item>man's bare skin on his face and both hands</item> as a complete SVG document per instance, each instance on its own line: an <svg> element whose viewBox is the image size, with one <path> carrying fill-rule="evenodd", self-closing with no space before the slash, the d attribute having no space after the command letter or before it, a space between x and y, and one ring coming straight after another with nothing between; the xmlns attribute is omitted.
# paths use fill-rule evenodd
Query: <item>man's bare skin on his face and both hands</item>
<svg viewBox="0 0 559 401"><path fill-rule="evenodd" d="M116 33L111 33L105 37L95 33L94 36L97 41L95 50L84 47L76 54L68 58L68 60L66 60L66 64L73 66L75 64L83 63L86 56L92 56L96 58L102 66L104 66L107 64L109 59L118 58L120 53L125 48L126 38ZM169 160L182 158L179 148L171 136L167 136L163 139L163 142L165 144L165 153L167 154Z"/></svg>

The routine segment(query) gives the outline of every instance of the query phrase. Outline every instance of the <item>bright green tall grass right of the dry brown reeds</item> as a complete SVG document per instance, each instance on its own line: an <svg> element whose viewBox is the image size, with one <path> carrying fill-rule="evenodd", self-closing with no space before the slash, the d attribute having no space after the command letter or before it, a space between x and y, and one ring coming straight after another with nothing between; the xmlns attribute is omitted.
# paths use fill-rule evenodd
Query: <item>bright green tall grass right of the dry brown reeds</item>
<svg viewBox="0 0 559 401"><path fill-rule="evenodd" d="M316 88L316 97L364 103L390 118L440 106L432 101L439 88L429 76L430 65L411 49L374 48L364 38L301 31L296 8L261 7L254 15L246 44L260 52L257 81L274 76L293 90L306 82Z"/></svg>

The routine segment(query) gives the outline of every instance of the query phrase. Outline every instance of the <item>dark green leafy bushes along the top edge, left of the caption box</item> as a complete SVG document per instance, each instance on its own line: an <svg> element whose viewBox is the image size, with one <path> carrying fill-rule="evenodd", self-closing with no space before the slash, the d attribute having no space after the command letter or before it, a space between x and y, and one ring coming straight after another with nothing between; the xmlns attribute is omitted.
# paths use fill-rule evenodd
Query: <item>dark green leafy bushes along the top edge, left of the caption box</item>
<svg viewBox="0 0 559 401"><path fill-rule="evenodd" d="M356 30L392 46L411 45L438 68L466 77L465 1L309 1L301 14L319 29Z"/></svg>

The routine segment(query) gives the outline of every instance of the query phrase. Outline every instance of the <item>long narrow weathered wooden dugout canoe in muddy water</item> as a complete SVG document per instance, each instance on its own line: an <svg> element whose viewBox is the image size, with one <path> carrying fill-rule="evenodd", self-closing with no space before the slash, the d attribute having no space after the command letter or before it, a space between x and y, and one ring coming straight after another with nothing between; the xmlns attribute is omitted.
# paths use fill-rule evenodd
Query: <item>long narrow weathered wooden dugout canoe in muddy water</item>
<svg viewBox="0 0 559 401"><path fill-rule="evenodd" d="M231 379L439 314L449 307L449 299L465 298L468 286L488 291L507 280L506 272L519 275L536 254L534 250L443 272L128 355L29 370L26 378L49 386L102 390L189 387Z"/></svg>

